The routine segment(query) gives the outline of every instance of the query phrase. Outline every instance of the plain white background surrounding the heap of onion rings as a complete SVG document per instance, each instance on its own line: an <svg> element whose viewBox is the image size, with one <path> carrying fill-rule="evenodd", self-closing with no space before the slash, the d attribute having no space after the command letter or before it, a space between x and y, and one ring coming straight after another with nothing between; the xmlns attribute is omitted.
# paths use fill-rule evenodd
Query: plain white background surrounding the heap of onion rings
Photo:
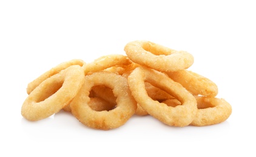
<svg viewBox="0 0 256 157"><path fill-rule="evenodd" d="M255 156L253 1L0 1L0 156ZM150 40L194 56L190 69L218 85L231 116L206 127L170 127L133 116L118 129L89 129L61 111L21 116L27 84L61 62L125 54ZM3 155L5 154L5 155Z"/></svg>

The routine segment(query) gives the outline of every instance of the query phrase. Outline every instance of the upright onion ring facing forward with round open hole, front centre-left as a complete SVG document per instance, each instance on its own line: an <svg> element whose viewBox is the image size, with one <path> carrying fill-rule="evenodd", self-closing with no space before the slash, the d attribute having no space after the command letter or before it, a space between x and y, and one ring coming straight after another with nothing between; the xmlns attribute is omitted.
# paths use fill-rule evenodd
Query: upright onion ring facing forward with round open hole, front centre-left
<svg viewBox="0 0 256 157"><path fill-rule="evenodd" d="M113 81L114 80L114 81ZM94 111L88 105L93 86L104 85L113 89L116 107L110 111ZM100 71L86 75L84 86L70 103L72 114L83 124L94 129L109 130L122 126L136 111L127 79L113 72Z"/></svg>

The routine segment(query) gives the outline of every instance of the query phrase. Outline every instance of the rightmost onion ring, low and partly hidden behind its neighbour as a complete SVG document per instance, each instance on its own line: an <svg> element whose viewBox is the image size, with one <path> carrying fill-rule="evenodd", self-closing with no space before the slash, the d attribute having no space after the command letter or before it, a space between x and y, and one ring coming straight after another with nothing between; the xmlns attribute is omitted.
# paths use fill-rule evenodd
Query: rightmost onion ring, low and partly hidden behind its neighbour
<svg viewBox="0 0 256 157"><path fill-rule="evenodd" d="M226 121L232 113L232 107L223 98L195 97L197 100L197 114L190 125L209 126Z"/></svg>

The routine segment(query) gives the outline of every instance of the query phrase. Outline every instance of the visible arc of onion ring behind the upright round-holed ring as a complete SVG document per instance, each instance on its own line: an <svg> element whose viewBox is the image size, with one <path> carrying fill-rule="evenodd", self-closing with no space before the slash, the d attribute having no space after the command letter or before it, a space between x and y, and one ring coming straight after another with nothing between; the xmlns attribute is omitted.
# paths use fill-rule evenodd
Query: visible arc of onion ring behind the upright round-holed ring
<svg viewBox="0 0 256 157"><path fill-rule="evenodd" d="M112 66L127 66L130 65L132 61L124 55L121 54L110 54L107 56L99 57L93 62L87 63L83 66L84 74L92 74L92 72L103 71L104 69L110 68Z"/></svg>

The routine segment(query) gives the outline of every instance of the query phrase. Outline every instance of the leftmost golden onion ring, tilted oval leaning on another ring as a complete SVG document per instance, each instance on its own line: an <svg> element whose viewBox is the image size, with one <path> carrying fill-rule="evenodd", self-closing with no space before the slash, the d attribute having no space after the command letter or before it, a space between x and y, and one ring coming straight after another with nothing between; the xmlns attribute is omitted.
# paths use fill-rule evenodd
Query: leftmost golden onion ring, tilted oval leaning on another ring
<svg viewBox="0 0 256 157"><path fill-rule="evenodd" d="M25 99L21 115L30 121L42 120L70 103L84 83L84 71L72 65L39 84Z"/></svg>

